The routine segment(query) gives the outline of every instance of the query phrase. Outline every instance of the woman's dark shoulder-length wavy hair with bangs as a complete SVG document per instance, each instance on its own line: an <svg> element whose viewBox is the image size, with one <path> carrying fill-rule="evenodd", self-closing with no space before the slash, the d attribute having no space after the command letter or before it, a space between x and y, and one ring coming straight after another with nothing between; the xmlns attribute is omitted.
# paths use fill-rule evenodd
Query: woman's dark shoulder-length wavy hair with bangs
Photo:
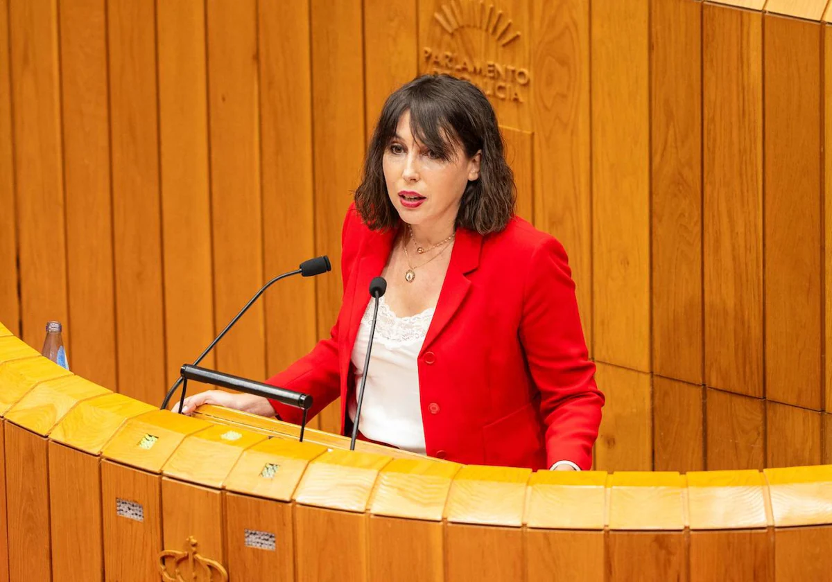
<svg viewBox="0 0 832 582"><path fill-rule="evenodd" d="M465 186L457 227L479 234L506 228L514 215L517 192L503 154L497 116L483 91L449 75L419 76L385 101L364 157L364 176L355 190L355 207L364 223L374 230L399 224L387 193L382 159L406 111L414 138L439 158L452 160L455 145L469 158L482 151L479 177Z"/></svg>

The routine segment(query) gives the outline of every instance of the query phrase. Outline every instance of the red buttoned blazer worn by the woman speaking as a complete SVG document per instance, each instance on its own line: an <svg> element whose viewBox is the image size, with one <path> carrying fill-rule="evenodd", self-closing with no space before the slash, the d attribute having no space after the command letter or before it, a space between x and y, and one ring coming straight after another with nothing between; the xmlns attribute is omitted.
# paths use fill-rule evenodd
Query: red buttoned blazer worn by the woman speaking
<svg viewBox="0 0 832 582"><path fill-rule="evenodd" d="M340 396L342 433L369 282L387 264L395 234L368 229L349 208L344 299L332 337L268 381L311 394L310 417ZM589 469L604 403L594 373L561 244L519 218L485 237L458 229L418 356L428 455L532 469L567 460ZM284 420L300 422L298 409L272 404Z"/></svg>

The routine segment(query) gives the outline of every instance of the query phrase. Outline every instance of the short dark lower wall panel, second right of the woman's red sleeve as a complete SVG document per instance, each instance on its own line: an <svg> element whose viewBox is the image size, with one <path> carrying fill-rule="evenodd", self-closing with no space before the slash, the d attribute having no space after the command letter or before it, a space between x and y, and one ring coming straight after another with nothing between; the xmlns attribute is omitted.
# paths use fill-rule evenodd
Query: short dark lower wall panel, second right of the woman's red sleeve
<svg viewBox="0 0 832 582"><path fill-rule="evenodd" d="M702 391L701 386L653 377L656 471L702 471L705 468Z"/></svg>

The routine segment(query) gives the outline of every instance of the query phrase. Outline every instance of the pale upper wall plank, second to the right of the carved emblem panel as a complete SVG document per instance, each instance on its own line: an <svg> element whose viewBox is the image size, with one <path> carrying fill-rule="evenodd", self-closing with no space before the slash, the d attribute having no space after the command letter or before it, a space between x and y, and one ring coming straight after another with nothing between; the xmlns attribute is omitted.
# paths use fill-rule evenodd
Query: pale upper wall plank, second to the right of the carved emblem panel
<svg viewBox="0 0 832 582"><path fill-rule="evenodd" d="M642 372L650 371L648 7L592 2L594 353Z"/></svg>

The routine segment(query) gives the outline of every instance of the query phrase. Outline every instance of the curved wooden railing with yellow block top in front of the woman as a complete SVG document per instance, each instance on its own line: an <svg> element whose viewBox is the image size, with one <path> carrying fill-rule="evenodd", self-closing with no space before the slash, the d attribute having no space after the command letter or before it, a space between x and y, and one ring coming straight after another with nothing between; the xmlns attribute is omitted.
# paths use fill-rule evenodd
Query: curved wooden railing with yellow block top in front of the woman
<svg viewBox="0 0 832 582"><path fill-rule="evenodd" d="M532 472L299 443L110 392L2 325L0 414L0 580L832 578L832 466Z"/></svg>

